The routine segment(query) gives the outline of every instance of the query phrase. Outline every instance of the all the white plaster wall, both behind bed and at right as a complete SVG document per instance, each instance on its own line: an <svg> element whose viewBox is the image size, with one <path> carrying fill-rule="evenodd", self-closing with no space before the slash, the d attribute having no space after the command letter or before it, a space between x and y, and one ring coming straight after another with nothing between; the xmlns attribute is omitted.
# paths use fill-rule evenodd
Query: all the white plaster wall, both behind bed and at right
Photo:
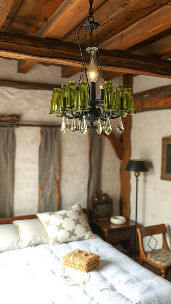
<svg viewBox="0 0 171 304"><path fill-rule="evenodd" d="M1 79L40 83L65 83L60 79L60 67L36 65L26 75L17 74L17 61L0 58ZM74 77L79 79L79 74ZM113 86L122 81L113 80ZM133 92L171 84L171 80L147 76L134 77ZM60 124L61 119L49 115L50 91L22 90L0 87L0 115L19 114L21 123ZM162 137L171 135L171 110L150 111L132 116L131 158L145 159L150 171L141 173L138 182L138 223L154 225L166 223L171 246L171 182L160 179ZM117 122L112 122L115 133ZM16 162L14 213L37 212L38 202L38 148L40 129L16 129ZM117 132L115 133L118 137ZM101 135L102 136L102 135ZM88 179L88 134L61 134L60 208L70 202L85 207ZM103 137L101 189L113 198L114 214L119 214L120 176L118 161L111 144ZM135 219L135 177L131 173L131 219Z"/></svg>

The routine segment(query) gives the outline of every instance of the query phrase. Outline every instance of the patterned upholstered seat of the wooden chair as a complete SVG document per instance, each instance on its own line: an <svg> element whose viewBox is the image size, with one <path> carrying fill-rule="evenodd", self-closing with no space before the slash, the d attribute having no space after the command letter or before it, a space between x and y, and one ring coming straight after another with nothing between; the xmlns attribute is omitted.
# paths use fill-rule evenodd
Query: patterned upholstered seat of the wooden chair
<svg viewBox="0 0 171 304"><path fill-rule="evenodd" d="M171 250L165 248L155 249L146 252L148 260L160 266L171 266Z"/></svg>

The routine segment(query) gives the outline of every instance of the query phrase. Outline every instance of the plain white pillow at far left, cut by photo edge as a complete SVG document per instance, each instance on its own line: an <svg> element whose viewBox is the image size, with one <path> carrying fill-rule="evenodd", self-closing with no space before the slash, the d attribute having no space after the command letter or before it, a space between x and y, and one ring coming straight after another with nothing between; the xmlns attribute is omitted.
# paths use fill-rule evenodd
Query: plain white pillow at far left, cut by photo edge
<svg viewBox="0 0 171 304"><path fill-rule="evenodd" d="M20 249L19 231L13 224L0 225L0 251Z"/></svg>

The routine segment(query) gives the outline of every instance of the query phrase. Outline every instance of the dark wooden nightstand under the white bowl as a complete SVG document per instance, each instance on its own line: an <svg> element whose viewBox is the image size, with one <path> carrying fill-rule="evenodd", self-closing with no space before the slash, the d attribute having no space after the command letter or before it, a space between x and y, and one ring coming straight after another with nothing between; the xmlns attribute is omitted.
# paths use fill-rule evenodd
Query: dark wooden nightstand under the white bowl
<svg viewBox="0 0 171 304"><path fill-rule="evenodd" d="M90 227L93 233L98 234L107 243L113 244L121 242L121 245L130 251L130 255L134 255L134 236L135 223L127 219L123 225L115 225L107 220L90 220Z"/></svg>

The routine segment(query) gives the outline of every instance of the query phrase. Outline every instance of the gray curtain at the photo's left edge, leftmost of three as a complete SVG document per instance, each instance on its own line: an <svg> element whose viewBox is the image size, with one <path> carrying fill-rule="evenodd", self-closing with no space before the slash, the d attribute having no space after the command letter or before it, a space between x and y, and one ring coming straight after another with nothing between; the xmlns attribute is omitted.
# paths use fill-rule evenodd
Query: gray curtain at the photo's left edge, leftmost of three
<svg viewBox="0 0 171 304"><path fill-rule="evenodd" d="M16 139L13 127L0 127L0 217L13 215Z"/></svg>

